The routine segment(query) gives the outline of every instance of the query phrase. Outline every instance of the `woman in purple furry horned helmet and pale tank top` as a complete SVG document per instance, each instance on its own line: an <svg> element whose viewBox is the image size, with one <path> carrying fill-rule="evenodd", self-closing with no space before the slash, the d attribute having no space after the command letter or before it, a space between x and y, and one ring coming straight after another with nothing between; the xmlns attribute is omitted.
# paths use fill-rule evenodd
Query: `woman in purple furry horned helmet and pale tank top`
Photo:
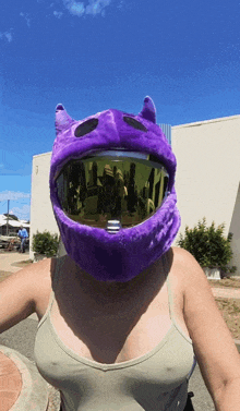
<svg viewBox="0 0 240 411"><path fill-rule="evenodd" d="M36 364L63 411L188 410L194 355L216 410L239 410L235 343L203 270L171 247L176 158L153 101L136 117L107 110L81 122L59 105L56 130L50 195L67 255L1 283L0 331L37 313Z"/></svg>

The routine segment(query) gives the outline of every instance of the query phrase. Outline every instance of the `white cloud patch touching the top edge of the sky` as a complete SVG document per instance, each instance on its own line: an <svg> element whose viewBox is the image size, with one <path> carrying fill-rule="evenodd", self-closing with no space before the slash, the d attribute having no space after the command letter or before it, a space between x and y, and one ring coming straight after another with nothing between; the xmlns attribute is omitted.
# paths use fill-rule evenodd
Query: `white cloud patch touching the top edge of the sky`
<svg viewBox="0 0 240 411"><path fill-rule="evenodd" d="M85 7L83 2L75 0L63 0L65 8L71 14L82 16L83 14L101 14L104 16L105 8L109 5L111 0L89 0Z"/></svg>

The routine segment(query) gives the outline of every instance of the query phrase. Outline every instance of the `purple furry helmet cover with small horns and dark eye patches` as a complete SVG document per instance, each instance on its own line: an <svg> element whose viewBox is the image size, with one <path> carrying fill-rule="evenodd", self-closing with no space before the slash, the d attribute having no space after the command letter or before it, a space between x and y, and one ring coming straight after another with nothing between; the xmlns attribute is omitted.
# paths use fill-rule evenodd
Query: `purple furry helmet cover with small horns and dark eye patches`
<svg viewBox="0 0 240 411"><path fill-rule="evenodd" d="M123 117L131 121L124 121ZM137 121L142 126L135 126ZM166 253L179 230L176 207L176 157L161 129L156 109L145 97L139 116L109 109L84 120L73 120L62 105L56 109L56 132L50 165L50 197L67 253L84 270L101 281L125 282ZM168 173L168 196L144 222L122 228L116 234L71 220L61 209L56 176L71 159L94 150L128 149L154 155Z"/></svg>

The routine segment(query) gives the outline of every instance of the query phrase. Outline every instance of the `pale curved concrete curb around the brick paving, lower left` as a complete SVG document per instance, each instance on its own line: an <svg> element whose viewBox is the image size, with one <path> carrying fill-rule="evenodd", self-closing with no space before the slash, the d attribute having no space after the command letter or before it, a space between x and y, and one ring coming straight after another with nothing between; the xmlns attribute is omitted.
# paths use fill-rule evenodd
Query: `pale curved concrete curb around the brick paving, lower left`
<svg viewBox="0 0 240 411"><path fill-rule="evenodd" d="M0 351L13 361L22 376L22 389L11 411L46 411L48 385L40 376L36 365L8 347L0 346Z"/></svg>

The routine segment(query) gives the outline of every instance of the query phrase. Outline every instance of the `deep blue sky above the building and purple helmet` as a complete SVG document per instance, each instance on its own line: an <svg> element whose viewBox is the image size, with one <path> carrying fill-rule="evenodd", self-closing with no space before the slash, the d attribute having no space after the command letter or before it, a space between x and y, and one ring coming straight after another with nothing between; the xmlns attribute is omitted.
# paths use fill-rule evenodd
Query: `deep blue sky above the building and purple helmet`
<svg viewBox="0 0 240 411"><path fill-rule="evenodd" d="M0 214L29 218L34 155L55 108L137 113L172 125L240 112L240 0L5 0L0 16Z"/></svg>

